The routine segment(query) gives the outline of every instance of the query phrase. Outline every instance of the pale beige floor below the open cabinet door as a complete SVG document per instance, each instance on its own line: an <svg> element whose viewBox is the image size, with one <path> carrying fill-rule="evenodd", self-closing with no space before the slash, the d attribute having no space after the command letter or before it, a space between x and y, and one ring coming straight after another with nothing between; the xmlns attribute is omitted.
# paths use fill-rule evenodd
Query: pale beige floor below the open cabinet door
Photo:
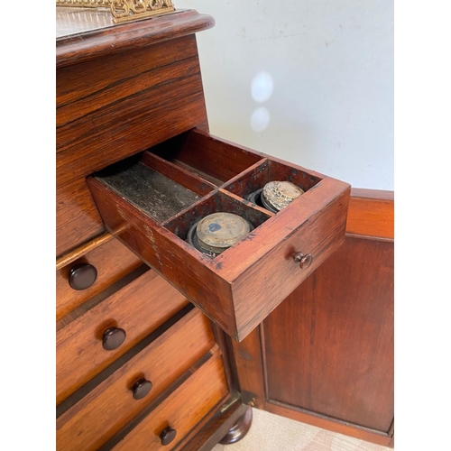
<svg viewBox="0 0 451 451"><path fill-rule="evenodd" d="M253 410L253 424L247 435L233 445L216 445L213 451L391 451L357 438L342 436Z"/></svg>

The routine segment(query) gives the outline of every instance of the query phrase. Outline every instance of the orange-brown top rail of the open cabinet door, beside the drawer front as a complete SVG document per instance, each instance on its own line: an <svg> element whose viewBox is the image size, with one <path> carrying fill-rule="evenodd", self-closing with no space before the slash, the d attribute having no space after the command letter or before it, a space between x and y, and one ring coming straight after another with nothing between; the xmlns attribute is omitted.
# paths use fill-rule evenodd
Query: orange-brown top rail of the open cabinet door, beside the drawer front
<svg viewBox="0 0 451 451"><path fill-rule="evenodd" d="M352 189L346 232L394 238L393 191Z"/></svg>

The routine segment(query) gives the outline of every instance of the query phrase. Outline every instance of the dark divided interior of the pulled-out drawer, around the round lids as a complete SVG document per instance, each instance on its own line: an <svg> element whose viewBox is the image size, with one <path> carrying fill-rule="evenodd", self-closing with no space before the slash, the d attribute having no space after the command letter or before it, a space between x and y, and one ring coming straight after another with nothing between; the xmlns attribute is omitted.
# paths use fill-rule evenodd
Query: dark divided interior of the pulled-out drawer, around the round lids
<svg viewBox="0 0 451 451"><path fill-rule="evenodd" d="M189 230L212 213L244 217L251 231L262 226L275 213L249 195L269 181L290 181L306 192L321 181L258 153L208 144L195 133L183 133L98 171L94 178L187 243Z"/></svg>

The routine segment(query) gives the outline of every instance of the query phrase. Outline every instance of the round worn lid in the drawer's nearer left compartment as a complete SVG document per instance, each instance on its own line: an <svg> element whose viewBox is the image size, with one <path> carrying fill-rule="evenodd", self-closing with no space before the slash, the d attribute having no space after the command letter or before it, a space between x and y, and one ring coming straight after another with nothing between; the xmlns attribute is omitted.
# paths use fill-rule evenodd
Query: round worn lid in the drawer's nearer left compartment
<svg viewBox="0 0 451 451"><path fill-rule="evenodd" d="M249 234L251 227L244 217L232 213L213 213L198 223L198 244L208 251L221 253Z"/></svg>

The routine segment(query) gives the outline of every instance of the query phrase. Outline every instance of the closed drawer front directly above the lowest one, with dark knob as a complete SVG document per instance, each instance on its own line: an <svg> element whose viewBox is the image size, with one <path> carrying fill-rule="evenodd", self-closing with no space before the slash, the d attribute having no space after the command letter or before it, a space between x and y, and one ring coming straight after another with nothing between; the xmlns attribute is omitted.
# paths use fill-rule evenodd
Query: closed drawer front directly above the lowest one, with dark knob
<svg viewBox="0 0 451 451"><path fill-rule="evenodd" d="M102 446L214 346L207 318L191 310L57 419L57 448L87 451ZM138 381L152 383L141 399L133 398Z"/></svg>

